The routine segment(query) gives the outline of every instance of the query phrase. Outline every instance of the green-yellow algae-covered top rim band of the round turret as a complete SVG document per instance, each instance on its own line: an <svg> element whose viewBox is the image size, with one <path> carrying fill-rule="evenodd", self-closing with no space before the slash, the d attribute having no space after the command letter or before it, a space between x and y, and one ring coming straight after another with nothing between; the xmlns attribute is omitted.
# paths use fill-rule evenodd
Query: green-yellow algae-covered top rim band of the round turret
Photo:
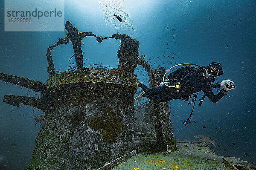
<svg viewBox="0 0 256 170"><path fill-rule="evenodd" d="M47 88L69 83L112 83L137 86L137 75L116 69L76 69L57 73L46 81Z"/></svg>

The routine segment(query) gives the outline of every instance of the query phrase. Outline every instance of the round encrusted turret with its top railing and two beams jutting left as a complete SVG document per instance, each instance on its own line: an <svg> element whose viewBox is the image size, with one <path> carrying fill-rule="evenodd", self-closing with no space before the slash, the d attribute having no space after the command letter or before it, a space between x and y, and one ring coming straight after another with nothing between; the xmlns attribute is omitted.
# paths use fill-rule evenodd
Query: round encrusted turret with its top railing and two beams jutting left
<svg viewBox="0 0 256 170"><path fill-rule="evenodd" d="M139 42L128 35L99 37L79 32L66 21L67 36L47 49L46 83L14 75L0 74L0 80L41 92L41 98L5 95L4 102L21 103L42 109L45 113L35 149L27 169L86 169L102 167L125 154L135 154L133 97L137 90ZM120 39L117 69L83 67L81 39L94 36ZM76 70L56 73L51 50L72 42Z"/></svg>

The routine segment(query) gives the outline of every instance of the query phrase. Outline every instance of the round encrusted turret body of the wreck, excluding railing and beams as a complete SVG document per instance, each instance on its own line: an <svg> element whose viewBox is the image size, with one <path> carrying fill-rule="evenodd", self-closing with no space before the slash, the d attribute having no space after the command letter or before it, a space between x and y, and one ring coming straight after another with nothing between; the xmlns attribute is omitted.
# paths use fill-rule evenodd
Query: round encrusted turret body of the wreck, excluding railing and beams
<svg viewBox="0 0 256 170"><path fill-rule="evenodd" d="M136 75L77 69L47 79L45 116L28 169L96 169L133 150Z"/></svg>

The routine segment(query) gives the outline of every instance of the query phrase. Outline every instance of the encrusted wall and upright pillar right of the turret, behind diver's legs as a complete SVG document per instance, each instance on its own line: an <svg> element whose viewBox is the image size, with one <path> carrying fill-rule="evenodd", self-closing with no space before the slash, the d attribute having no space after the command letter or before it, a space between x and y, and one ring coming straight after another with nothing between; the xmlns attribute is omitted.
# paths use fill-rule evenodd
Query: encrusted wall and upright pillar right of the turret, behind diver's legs
<svg viewBox="0 0 256 170"><path fill-rule="evenodd" d="M140 58L142 59L142 58ZM144 61L145 62L145 61ZM148 72L150 87L158 86L162 81L165 69L151 69L141 64ZM139 153L156 153L176 150L172 134L170 109L168 102L154 103L149 100L134 106L135 144Z"/></svg>

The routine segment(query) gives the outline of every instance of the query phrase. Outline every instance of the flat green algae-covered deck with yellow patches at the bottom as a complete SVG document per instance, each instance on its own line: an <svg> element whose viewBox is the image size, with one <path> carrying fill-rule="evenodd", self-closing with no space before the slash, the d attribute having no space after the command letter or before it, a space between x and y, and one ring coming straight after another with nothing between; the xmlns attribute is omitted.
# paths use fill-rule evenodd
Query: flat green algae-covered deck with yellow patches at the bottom
<svg viewBox="0 0 256 170"><path fill-rule="evenodd" d="M188 147L184 147L185 144ZM204 145L201 142L178 142L177 151L135 155L113 170L132 170L135 167L140 170L227 170L221 156L210 148L198 150L198 144Z"/></svg>

